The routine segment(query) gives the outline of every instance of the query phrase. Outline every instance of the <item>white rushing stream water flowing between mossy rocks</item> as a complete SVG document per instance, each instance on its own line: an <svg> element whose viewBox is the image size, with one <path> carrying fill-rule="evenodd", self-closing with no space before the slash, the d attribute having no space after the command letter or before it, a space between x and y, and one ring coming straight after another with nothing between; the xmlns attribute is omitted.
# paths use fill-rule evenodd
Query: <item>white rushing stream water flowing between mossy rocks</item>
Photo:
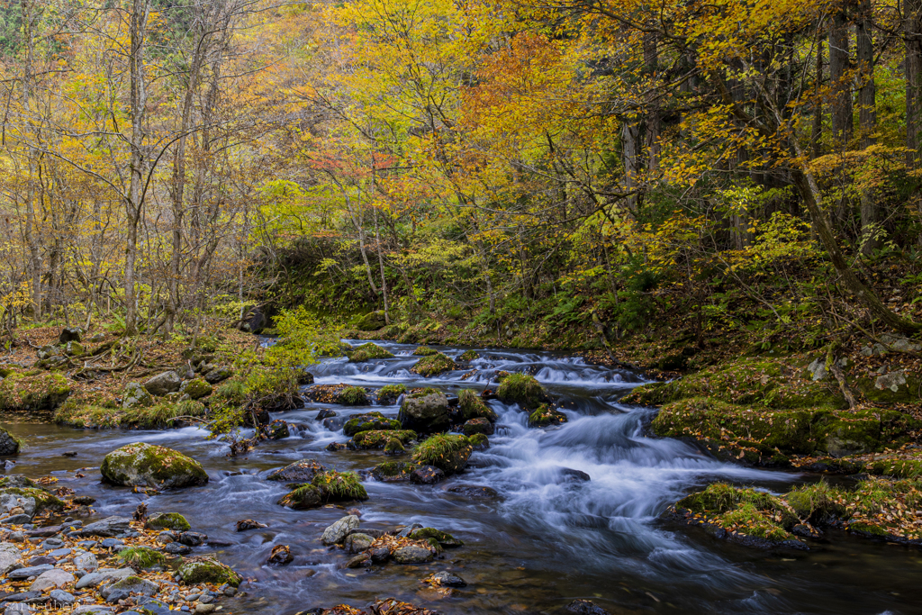
<svg viewBox="0 0 922 615"><path fill-rule="evenodd" d="M271 469L302 458L338 470L388 460L381 451L327 452L326 444L348 438L326 431L314 417L323 408L340 415L374 409L396 417L396 405L309 404L273 415L298 427L289 438L259 444L236 459L226 456L225 444L207 440L207 432L193 427L82 431L14 418L7 426L27 440L28 448L6 471L30 477L52 473L60 484L97 497L99 518L131 514L141 502L151 513L183 513L193 529L225 543L196 548L195 554L214 554L250 579L241 587L245 595L225 603L235 613L290 615L339 603L361 607L378 597L398 597L446 614L561 613L574 598L593 600L614 614L922 613L918 550L844 534L811 541L807 551L750 550L661 520L669 503L716 480L786 491L816 477L721 463L690 444L651 437L645 426L656 410L618 403L644 383L636 373L559 353L486 349L479 350L481 358L472 363L477 373L467 380L462 380L465 372L421 378L409 372L418 359L410 355L414 346L381 345L396 358L326 359L310 371L317 384L403 383L450 395L461 388L482 390L498 370L531 373L560 397L569 418L559 428L528 429L526 413L491 401L500 416L497 433L488 450L471 456L464 474L426 487L365 482L370 500L359 506L363 527L420 523L465 541L430 564L341 568L349 555L325 548L320 535L344 512L283 508L277 501L285 486L265 479ZM454 357L464 349L441 350ZM103 455L138 441L199 460L210 477L207 486L148 497L102 484ZM77 456L62 456L68 451ZM562 480L561 467L585 472L590 480ZM447 491L461 484L489 486L498 495L471 499ZM245 518L267 527L235 532L235 523ZM266 565L278 544L290 545L295 555L290 565ZM440 570L462 576L467 587L446 597L420 583Z"/></svg>

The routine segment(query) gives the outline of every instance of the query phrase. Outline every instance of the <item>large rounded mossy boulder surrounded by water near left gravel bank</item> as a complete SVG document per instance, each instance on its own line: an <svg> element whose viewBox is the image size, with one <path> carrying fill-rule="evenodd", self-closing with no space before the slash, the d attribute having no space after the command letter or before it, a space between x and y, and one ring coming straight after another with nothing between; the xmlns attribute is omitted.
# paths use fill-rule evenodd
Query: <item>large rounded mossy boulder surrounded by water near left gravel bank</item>
<svg viewBox="0 0 922 615"><path fill-rule="evenodd" d="M208 475L194 459L171 448L136 442L102 459L102 479L124 487L171 489L204 485Z"/></svg>

